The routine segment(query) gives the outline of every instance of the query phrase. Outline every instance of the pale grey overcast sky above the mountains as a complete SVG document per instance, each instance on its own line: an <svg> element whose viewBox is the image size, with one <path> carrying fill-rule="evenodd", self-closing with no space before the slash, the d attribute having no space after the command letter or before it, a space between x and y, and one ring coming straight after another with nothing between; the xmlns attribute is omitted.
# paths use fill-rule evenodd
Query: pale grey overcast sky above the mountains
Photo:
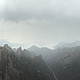
<svg viewBox="0 0 80 80"><path fill-rule="evenodd" d="M26 47L80 40L80 0L0 0L0 39Z"/></svg>

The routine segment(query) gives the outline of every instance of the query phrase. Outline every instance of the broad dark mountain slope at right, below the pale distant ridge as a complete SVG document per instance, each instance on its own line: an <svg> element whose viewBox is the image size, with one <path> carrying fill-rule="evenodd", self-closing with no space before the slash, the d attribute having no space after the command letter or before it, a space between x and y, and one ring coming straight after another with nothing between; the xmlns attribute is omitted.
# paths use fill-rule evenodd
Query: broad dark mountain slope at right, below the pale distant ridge
<svg viewBox="0 0 80 80"><path fill-rule="evenodd" d="M80 80L80 46L55 49L47 64L57 80Z"/></svg>

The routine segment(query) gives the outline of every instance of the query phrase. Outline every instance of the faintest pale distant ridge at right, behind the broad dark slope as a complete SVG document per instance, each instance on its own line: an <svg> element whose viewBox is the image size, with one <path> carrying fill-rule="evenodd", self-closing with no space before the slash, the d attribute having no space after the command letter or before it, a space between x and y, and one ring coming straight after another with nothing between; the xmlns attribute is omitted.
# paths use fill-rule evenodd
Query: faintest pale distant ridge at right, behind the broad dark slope
<svg viewBox="0 0 80 80"><path fill-rule="evenodd" d="M80 46L80 41L75 41L75 42L72 42L72 43L61 42L58 45L56 45L55 48L76 47L76 46Z"/></svg>

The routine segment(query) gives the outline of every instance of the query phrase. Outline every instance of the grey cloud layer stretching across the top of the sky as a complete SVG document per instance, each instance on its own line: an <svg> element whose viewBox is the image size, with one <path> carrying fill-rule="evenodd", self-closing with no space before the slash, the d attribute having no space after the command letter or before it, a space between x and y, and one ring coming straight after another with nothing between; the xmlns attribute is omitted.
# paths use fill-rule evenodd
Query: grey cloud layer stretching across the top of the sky
<svg viewBox="0 0 80 80"><path fill-rule="evenodd" d="M4 0L0 17L4 20L80 18L79 0Z"/></svg>

